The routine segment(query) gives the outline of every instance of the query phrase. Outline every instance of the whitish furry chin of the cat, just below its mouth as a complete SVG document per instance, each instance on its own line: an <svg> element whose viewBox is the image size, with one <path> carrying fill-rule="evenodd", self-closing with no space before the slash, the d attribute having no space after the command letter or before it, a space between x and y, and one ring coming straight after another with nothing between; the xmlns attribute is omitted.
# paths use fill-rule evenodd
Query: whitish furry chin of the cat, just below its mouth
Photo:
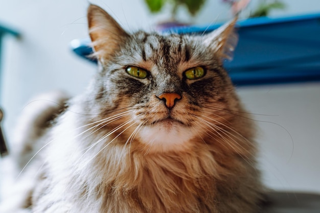
<svg viewBox="0 0 320 213"><path fill-rule="evenodd" d="M173 119L144 126L138 133L148 152L185 151L191 147L195 133L191 127Z"/></svg>

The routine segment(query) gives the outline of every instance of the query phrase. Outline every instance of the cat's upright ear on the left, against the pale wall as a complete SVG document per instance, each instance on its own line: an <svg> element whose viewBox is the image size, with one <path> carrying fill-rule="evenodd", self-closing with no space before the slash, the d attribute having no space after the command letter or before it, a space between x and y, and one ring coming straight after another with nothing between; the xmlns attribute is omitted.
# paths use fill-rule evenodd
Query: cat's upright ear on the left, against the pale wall
<svg viewBox="0 0 320 213"><path fill-rule="evenodd" d="M128 34L115 19L96 5L89 6L87 18L94 55L103 63L117 51Z"/></svg>

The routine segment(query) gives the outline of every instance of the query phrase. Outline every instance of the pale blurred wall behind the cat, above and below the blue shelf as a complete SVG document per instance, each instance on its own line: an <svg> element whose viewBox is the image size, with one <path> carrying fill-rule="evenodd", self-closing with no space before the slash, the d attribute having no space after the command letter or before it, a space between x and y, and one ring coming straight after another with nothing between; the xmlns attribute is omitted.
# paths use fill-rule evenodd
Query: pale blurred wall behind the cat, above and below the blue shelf
<svg viewBox="0 0 320 213"><path fill-rule="evenodd" d="M193 17L180 7L175 17L198 25L223 22L232 17L226 2L207 0ZM270 17L320 13L318 0L281 2L285 8L272 10ZM127 31L151 30L172 17L169 5L153 14L144 0L0 0L0 25L20 34L4 36L0 62L2 127L9 147L17 117L34 96L57 89L74 96L95 74L96 65L75 55L70 46L73 39L88 37L89 3L104 8ZM253 0L240 18L258 5L259 0ZM238 86L237 90L257 121L265 184L275 190L320 193L320 83Z"/></svg>

